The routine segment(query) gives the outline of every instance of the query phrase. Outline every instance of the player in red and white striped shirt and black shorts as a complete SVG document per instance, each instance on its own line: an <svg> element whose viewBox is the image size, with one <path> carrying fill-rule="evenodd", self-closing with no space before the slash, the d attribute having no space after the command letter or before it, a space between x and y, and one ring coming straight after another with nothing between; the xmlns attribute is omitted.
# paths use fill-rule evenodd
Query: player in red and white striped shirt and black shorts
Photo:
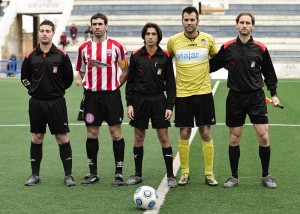
<svg viewBox="0 0 300 214"><path fill-rule="evenodd" d="M120 186L123 185L125 142L121 132L124 111L119 88L126 81L128 61L126 48L107 36L107 23L104 14L97 13L91 17L93 38L79 47L77 55L76 70L82 77L85 95L86 152L90 168L81 183L93 184L99 181L99 127L106 121L113 140L116 166L112 184Z"/></svg>

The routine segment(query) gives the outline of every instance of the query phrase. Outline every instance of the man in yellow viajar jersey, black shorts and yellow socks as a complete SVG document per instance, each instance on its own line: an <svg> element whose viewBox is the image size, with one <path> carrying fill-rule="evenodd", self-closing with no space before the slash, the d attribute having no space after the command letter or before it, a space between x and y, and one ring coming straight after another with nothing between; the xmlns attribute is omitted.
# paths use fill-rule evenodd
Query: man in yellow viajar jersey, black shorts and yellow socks
<svg viewBox="0 0 300 214"><path fill-rule="evenodd" d="M197 30L199 13L195 7L182 11L184 31L170 37L168 52L176 63L175 126L180 128L179 157L181 176L178 185L190 182L189 139L199 127L205 162L205 182L217 186L213 174L214 144L210 126L216 124L209 76L209 57L218 50L213 37Z"/></svg>

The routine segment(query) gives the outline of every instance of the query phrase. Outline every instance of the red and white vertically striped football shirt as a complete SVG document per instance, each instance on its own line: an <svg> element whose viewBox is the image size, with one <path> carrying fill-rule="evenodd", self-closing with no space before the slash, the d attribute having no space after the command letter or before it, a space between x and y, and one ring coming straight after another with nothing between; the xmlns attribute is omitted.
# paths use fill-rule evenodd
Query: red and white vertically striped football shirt
<svg viewBox="0 0 300 214"><path fill-rule="evenodd" d="M104 42L91 40L78 49L76 70L84 72L82 86L88 91L114 91L120 87L119 61L126 59L127 50L116 40L107 37Z"/></svg>

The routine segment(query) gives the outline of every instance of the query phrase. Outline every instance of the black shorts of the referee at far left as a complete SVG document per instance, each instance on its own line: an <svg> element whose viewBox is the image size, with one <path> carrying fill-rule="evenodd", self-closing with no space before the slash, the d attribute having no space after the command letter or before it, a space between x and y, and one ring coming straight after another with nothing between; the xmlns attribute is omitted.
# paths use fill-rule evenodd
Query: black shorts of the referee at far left
<svg viewBox="0 0 300 214"><path fill-rule="evenodd" d="M59 97L52 100L29 100L30 132L46 133L46 125L51 134L65 134L70 131L66 100Z"/></svg>

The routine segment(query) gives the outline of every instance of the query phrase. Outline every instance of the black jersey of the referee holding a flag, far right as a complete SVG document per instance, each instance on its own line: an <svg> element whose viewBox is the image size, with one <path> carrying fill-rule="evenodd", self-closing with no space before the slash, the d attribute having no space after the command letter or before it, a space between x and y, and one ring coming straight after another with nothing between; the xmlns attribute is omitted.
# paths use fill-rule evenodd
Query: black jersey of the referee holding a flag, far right
<svg viewBox="0 0 300 214"><path fill-rule="evenodd" d="M265 82L271 96L276 95L278 81L270 54L266 46L252 36L245 44L237 37L222 45L218 54L210 59L210 72L222 67L228 70L227 86L232 91L256 91Z"/></svg>

